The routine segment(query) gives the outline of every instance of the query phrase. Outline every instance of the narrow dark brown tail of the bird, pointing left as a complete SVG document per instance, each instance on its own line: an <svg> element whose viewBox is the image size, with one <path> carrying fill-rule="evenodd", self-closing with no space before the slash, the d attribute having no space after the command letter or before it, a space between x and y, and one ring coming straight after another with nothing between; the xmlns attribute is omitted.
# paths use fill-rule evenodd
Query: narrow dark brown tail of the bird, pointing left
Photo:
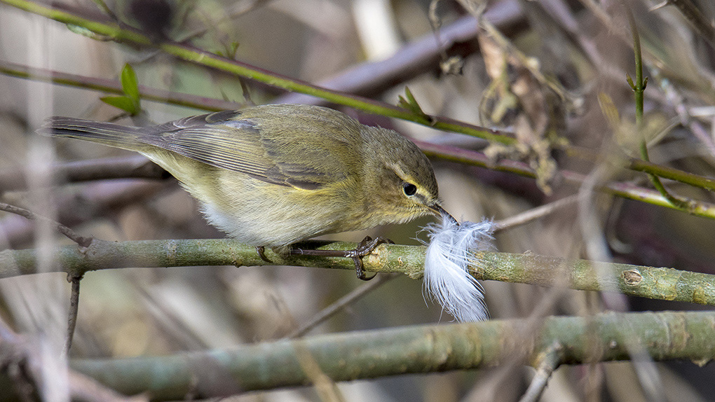
<svg viewBox="0 0 715 402"><path fill-rule="evenodd" d="M72 117L50 117L37 132L44 136L83 139L130 151L141 151L146 146L138 141L141 135L139 127Z"/></svg>

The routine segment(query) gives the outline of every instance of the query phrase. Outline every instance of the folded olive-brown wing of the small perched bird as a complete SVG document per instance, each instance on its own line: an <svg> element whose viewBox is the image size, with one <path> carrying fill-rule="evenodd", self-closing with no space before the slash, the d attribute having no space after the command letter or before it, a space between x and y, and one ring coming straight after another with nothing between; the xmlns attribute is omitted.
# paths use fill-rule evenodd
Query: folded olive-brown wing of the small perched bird
<svg viewBox="0 0 715 402"><path fill-rule="evenodd" d="M319 189L349 175L350 166L336 154L349 145L345 138L326 134L325 127L312 122L298 122L295 127L289 116L270 116L270 122L266 118L241 111L193 116L145 129L139 141L299 189ZM297 136L295 129L301 130Z"/></svg>

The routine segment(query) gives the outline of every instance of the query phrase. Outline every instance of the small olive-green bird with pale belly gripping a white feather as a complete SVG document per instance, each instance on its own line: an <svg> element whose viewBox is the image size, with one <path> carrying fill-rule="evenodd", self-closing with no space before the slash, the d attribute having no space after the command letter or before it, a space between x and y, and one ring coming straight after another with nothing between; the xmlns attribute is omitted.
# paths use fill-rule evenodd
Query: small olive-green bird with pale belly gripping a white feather
<svg viewBox="0 0 715 402"><path fill-rule="evenodd" d="M51 117L39 130L137 151L254 246L439 213L430 161L400 134L332 109L265 105L146 128Z"/></svg>

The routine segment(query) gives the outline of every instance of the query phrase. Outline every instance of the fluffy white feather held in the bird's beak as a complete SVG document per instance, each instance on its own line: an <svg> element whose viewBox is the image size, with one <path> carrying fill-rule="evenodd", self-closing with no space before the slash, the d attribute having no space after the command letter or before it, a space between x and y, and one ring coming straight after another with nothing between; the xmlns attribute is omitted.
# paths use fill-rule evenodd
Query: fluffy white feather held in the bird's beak
<svg viewBox="0 0 715 402"><path fill-rule="evenodd" d="M488 220L457 223L443 216L441 224L430 224L430 244L425 254L424 286L457 321L489 318L484 288L468 271L469 251L491 248L493 223Z"/></svg>

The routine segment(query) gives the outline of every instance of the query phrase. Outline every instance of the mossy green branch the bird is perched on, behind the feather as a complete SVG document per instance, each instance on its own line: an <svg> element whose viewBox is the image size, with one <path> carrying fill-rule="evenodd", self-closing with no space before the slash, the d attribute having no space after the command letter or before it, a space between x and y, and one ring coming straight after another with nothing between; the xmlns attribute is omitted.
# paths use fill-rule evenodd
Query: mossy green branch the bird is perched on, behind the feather
<svg viewBox="0 0 715 402"><path fill-rule="evenodd" d="M305 247L350 250L355 243L311 241ZM128 267L177 266L310 266L355 270L349 258L280 256L270 250L262 261L255 247L231 239L100 241L87 248L64 246L54 253L54 271L82 276L89 271ZM365 271L423 275L424 246L381 245L363 258ZM538 286L563 286L584 291L617 288L624 294L660 300L685 301L715 306L715 276L621 263L563 260L534 254L476 252L471 258L478 279ZM36 251L0 251L0 278L28 275L36 271Z"/></svg>

